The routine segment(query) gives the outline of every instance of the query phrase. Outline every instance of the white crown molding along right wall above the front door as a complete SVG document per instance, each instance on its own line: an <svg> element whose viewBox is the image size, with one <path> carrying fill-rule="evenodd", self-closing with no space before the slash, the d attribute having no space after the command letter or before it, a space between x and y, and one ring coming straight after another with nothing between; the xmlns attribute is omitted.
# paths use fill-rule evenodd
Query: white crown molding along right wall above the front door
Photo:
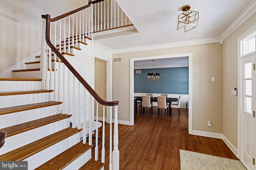
<svg viewBox="0 0 256 170"><path fill-rule="evenodd" d="M221 41L226 39L233 31L235 31L244 21L256 12L256 0L254 0L239 16L231 23L231 25L220 35Z"/></svg>

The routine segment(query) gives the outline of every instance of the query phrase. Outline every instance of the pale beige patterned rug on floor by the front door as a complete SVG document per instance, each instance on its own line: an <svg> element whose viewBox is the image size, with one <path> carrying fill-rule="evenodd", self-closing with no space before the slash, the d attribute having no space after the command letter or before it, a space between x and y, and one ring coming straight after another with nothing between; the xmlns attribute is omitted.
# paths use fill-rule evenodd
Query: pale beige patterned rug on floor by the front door
<svg viewBox="0 0 256 170"><path fill-rule="evenodd" d="M181 170L246 170L239 160L180 149Z"/></svg>

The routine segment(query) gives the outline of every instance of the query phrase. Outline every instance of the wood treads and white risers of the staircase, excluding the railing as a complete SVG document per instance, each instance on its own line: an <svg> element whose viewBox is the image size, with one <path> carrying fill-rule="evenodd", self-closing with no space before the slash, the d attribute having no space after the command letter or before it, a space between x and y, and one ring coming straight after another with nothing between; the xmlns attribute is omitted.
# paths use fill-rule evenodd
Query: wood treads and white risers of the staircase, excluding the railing
<svg viewBox="0 0 256 170"><path fill-rule="evenodd" d="M70 127L72 115L60 113L62 102L51 100L54 90L41 90L42 79L28 78L39 76L40 61L26 64L13 70L26 78L0 78L0 131L7 133L0 160L28 161L30 170L104 169L92 159L94 145L80 141L82 129Z"/></svg>

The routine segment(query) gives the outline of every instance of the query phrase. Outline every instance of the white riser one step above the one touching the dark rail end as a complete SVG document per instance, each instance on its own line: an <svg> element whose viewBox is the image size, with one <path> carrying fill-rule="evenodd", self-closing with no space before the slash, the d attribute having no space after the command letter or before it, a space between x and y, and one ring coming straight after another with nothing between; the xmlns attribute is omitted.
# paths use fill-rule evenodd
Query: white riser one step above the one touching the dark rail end
<svg viewBox="0 0 256 170"><path fill-rule="evenodd" d="M60 113L58 107L60 107L60 105L0 115L0 129L56 115Z"/></svg>

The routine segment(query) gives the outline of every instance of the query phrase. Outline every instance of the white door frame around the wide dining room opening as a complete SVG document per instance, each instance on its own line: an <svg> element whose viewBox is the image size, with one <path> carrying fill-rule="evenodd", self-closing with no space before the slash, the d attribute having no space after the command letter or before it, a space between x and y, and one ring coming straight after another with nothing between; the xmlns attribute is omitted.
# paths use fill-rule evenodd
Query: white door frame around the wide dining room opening
<svg viewBox="0 0 256 170"><path fill-rule="evenodd" d="M192 53L130 58L130 125L134 125L134 61L188 57L188 133L192 134Z"/></svg>

